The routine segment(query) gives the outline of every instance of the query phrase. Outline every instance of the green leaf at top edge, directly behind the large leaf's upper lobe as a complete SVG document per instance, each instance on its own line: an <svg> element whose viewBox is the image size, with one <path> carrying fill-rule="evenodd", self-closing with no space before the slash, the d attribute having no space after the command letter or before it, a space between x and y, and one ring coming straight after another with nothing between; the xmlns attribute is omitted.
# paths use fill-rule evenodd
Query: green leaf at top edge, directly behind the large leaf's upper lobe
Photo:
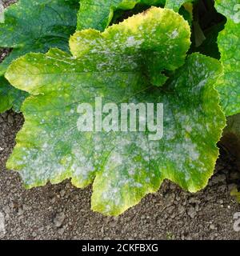
<svg viewBox="0 0 240 256"><path fill-rule="evenodd" d="M148 6L163 6L166 0L82 0L78 12L78 30L103 31L109 26L114 10L130 10L138 3Z"/></svg>

